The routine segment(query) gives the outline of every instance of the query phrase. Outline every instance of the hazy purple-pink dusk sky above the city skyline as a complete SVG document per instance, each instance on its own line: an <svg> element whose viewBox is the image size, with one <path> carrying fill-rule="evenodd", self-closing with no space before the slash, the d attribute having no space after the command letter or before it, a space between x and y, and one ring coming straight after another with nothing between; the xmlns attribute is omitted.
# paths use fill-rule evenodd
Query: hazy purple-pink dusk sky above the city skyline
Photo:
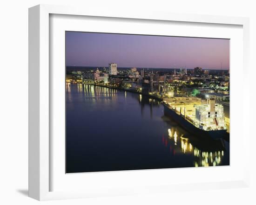
<svg viewBox="0 0 256 205"><path fill-rule="evenodd" d="M229 69L229 39L66 32L66 64Z"/></svg>

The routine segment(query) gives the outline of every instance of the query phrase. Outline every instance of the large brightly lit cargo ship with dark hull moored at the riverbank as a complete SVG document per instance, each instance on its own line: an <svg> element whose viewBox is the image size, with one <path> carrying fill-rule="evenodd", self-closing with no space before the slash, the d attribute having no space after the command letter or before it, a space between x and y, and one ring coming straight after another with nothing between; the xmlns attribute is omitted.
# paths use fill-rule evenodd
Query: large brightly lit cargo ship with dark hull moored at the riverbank
<svg viewBox="0 0 256 205"><path fill-rule="evenodd" d="M171 97L163 100L163 106L164 115L193 135L220 139L227 133L223 106L214 99Z"/></svg>

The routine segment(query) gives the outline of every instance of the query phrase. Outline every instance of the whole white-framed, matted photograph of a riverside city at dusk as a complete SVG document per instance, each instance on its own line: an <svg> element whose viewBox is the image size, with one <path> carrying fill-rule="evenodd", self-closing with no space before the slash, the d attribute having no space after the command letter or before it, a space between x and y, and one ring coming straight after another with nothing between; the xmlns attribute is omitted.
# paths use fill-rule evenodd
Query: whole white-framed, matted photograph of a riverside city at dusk
<svg viewBox="0 0 256 205"><path fill-rule="evenodd" d="M29 196L249 186L248 52L246 18L30 8Z"/></svg>

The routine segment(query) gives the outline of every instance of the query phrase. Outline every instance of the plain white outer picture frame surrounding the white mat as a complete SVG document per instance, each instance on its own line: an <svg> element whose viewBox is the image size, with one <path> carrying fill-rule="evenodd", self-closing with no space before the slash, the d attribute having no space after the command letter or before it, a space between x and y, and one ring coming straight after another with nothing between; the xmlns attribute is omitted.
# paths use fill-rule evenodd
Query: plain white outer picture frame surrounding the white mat
<svg viewBox="0 0 256 205"><path fill-rule="evenodd" d="M128 19L148 19L159 21L198 22L221 25L243 26L243 81L249 79L249 19L240 17L223 17L175 13L133 13L132 11L93 10L91 8L77 8L70 6L38 5L29 8L29 197L37 200L72 199L92 196L102 196L93 191L88 195L86 191L50 191L50 170L52 168L50 152L50 39L49 15L67 14L76 16L113 17ZM249 101L249 89L243 88L244 101ZM244 108L242 108L244 109ZM249 113L243 113L243 120L249 119ZM244 125L243 125L244 126ZM249 129L243 130L243 141L249 141ZM249 156L249 149L243 150ZM249 186L249 157L245 160L243 179L219 181L216 183L187 184L185 182L175 186L175 190L218 189ZM157 172L157 170L156 170ZM106 174L106 173L104 173ZM171 192L171 185L152 185L146 190L135 187L136 193ZM135 193L131 189L109 190L105 196L115 196ZM103 194L104 195L104 194Z"/></svg>

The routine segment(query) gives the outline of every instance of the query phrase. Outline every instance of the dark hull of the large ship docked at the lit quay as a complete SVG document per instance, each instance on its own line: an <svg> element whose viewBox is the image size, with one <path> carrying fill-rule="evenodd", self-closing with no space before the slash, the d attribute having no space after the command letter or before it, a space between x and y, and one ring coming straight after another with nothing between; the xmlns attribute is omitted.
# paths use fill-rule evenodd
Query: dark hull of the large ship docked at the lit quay
<svg viewBox="0 0 256 205"><path fill-rule="evenodd" d="M187 130L190 134L199 137L211 137L213 139L221 139L226 135L226 129L205 131L196 128L193 124L185 120L182 115L178 115L173 109L170 109L165 103L163 103L163 107L164 115L171 117L175 122L177 122L182 128Z"/></svg>

